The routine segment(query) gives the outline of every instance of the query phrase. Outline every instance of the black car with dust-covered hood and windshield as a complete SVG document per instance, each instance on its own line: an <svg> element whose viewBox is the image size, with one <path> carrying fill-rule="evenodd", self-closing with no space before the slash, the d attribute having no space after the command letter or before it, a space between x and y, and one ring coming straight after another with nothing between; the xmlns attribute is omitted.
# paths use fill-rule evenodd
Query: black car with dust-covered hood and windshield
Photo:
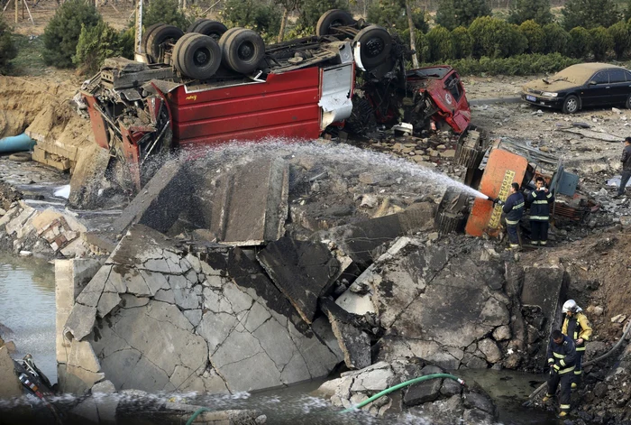
<svg viewBox="0 0 631 425"><path fill-rule="evenodd" d="M631 71L608 63L581 63L553 77L530 81L522 100L536 106L558 108L573 114L583 106L631 108Z"/></svg>

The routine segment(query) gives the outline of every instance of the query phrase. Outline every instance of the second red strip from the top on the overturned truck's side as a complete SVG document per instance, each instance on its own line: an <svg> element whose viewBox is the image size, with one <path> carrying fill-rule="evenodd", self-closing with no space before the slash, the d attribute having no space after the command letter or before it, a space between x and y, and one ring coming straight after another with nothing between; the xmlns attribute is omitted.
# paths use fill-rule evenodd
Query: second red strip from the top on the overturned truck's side
<svg viewBox="0 0 631 425"><path fill-rule="evenodd" d="M238 97L214 102L197 102L195 105L173 108L173 120L176 123L197 121L219 116L246 114L252 112L279 109L289 106L314 104L319 100L318 88L299 88L291 95L287 92L261 94L261 99L252 101L251 97Z"/></svg>

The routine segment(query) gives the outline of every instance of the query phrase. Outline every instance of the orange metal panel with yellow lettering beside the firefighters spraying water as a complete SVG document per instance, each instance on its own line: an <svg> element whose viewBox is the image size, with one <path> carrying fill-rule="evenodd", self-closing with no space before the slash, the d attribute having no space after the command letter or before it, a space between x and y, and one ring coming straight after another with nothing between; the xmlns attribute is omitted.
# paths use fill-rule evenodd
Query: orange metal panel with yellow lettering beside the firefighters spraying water
<svg viewBox="0 0 631 425"><path fill-rule="evenodd" d="M523 156L502 149L492 150L482 174L480 192L491 199L506 200L510 194L511 183L519 183L521 186L527 166L528 161ZM501 213L501 206L493 205L488 199L477 198L473 202L464 231L471 236L482 236L483 233L496 236Z"/></svg>

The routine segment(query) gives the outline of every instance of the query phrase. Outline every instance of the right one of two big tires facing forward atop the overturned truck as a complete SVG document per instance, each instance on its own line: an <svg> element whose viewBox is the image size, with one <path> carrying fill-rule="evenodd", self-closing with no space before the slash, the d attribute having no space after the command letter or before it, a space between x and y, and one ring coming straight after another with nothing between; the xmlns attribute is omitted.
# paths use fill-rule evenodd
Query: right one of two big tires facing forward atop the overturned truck
<svg viewBox="0 0 631 425"><path fill-rule="evenodd" d="M224 64L235 72L249 74L265 56L265 42L257 32L245 28L232 30L224 32L219 41Z"/></svg>

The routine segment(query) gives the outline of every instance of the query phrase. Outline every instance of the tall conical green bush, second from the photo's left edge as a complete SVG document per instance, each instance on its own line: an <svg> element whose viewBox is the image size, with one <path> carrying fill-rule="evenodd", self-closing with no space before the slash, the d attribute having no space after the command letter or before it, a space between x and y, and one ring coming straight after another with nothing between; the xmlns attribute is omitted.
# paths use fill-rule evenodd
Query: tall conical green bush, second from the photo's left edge
<svg viewBox="0 0 631 425"><path fill-rule="evenodd" d="M81 28L92 28L101 20L93 5L83 0L67 0L55 11L44 29L42 58L48 65L72 67Z"/></svg>

